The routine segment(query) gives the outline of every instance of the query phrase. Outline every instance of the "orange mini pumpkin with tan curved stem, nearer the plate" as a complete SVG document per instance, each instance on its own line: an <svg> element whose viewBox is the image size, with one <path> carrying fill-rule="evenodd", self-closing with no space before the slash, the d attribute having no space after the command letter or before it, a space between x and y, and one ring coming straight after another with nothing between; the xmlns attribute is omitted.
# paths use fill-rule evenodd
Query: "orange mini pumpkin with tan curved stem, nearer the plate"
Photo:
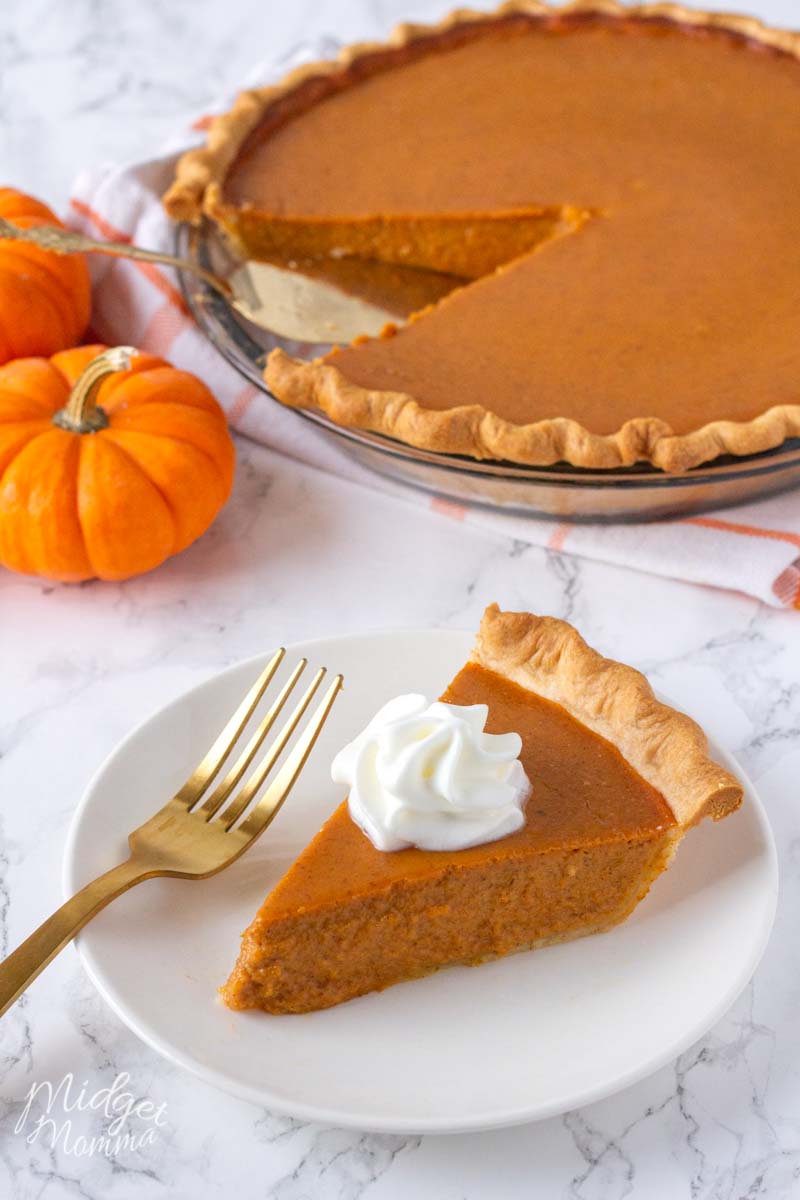
<svg viewBox="0 0 800 1200"><path fill-rule="evenodd" d="M125 580L199 538L234 448L205 384L131 347L0 367L0 563L52 580Z"/></svg>

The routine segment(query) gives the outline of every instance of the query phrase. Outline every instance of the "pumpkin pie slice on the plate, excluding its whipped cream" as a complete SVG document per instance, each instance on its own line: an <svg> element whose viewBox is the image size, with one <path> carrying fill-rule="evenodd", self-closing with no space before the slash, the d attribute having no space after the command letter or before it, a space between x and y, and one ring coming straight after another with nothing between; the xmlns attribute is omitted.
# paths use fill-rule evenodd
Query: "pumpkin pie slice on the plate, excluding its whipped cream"
<svg viewBox="0 0 800 1200"><path fill-rule="evenodd" d="M491 606L443 695L517 733L521 827L464 850L379 850L348 802L266 898L223 989L235 1009L302 1013L451 964L610 929L688 828L741 803L702 730L572 626Z"/></svg>

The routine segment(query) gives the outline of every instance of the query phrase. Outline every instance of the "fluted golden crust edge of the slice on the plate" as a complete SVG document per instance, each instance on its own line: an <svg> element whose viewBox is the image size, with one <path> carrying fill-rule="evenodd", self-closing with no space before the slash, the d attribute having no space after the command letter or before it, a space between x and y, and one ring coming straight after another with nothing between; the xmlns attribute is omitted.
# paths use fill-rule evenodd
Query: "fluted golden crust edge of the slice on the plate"
<svg viewBox="0 0 800 1200"><path fill-rule="evenodd" d="M656 787L686 829L741 804L738 779L709 757L703 730L656 700L644 676L604 659L566 622L528 612L483 613L473 661L561 704L606 738Z"/></svg>

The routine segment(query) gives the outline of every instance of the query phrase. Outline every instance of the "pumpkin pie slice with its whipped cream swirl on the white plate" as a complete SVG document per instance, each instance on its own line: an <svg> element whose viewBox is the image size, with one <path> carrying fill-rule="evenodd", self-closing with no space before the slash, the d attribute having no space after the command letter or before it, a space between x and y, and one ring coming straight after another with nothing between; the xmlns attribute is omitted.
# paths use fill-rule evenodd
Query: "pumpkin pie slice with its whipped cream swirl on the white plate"
<svg viewBox="0 0 800 1200"><path fill-rule="evenodd" d="M742 798L638 671L495 605L441 701L390 702L333 774L349 799L245 932L231 1008L311 1012L610 929Z"/></svg>

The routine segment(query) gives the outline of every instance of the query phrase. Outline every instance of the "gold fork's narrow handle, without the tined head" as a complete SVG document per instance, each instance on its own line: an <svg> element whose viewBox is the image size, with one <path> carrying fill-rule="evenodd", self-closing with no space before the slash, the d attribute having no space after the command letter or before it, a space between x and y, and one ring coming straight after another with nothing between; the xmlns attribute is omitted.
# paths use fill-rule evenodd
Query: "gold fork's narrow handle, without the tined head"
<svg viewBox="0 0 800 1200"><path fill-rule="evenodd" d="M22 946L0 962L0 1016L95 913L136 883L151 878L154 874L158 872L143 870L140 864L128 858L92 880L48 917Z"/></svg>

